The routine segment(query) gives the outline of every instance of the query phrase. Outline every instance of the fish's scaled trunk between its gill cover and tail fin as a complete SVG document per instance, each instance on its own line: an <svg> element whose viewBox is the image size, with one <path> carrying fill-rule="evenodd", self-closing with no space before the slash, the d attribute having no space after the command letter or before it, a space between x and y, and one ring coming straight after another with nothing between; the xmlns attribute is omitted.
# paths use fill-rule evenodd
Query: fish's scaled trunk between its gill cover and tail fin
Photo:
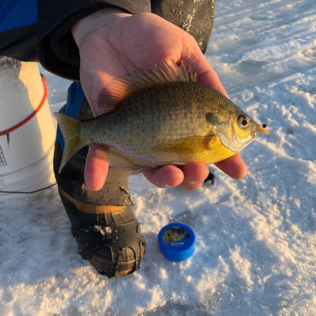
<svg viewBox="0 0 316 316"><path fill-rule="evenodd" d="M81 121L81 131L88 143L113 147L139 165L212 163L235 154L213 137L205 118L219 102L214 91L196 82L150 87L127 97L107 114Z"/></svg>

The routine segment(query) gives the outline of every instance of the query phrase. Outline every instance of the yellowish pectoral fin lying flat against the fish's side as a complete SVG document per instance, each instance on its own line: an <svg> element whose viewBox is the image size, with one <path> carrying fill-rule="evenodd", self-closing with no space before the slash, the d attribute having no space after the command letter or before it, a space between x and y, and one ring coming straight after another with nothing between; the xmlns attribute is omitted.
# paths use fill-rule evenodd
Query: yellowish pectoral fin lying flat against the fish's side
<svg viewBox="0 0 316 316"><path fill-rule="evenodd" d="M158 144L151 149L158 152L170 152L177 154L201 153L210 149L210 141L214 135L189 136L179 138L166 143Z"/></svg>

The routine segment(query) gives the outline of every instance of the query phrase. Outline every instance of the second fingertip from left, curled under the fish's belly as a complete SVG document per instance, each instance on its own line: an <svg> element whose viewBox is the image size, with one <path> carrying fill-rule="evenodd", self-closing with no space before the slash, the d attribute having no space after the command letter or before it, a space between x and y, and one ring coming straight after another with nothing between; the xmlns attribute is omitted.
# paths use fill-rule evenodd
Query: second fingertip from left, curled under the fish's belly
<svg viewBox="0 0 316 316"><path fill-rule="evenodd" d="M166 165L158 169L150 169L144 172L144 176L158 188L177 186L184 179L183 172L172 165Z"/></svg>

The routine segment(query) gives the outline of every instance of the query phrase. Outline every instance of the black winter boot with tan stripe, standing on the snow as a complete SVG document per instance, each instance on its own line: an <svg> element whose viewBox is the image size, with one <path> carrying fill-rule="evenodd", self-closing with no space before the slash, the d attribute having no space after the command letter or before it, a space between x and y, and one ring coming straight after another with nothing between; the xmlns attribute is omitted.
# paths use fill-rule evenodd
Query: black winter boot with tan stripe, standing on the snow
<svg viewBox="0 0 316 316"><path fill-rule="evenodd" d="M90 191L84 184L86 155L87 147L74 155L58 174L62 150L59 142L55 143L55 177L78 252L102 275L133 273L139 269L145 253L145 239L129 208L133 204L127 189L130 171L109 168L104 187Z"/></svg>

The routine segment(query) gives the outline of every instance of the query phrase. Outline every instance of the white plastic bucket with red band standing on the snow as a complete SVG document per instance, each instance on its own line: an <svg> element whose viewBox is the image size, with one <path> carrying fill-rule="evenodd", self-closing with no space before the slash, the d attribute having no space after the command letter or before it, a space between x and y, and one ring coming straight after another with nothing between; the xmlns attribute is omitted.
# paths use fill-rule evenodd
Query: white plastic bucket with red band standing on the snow
<svg viewBox="0 0 316 316"><path fill-rule="evenodd" d="M0 136L0 191L34 191L55 181L56 121L44 92L37 63L0 57L0 135L10 130Z"/></svg>

